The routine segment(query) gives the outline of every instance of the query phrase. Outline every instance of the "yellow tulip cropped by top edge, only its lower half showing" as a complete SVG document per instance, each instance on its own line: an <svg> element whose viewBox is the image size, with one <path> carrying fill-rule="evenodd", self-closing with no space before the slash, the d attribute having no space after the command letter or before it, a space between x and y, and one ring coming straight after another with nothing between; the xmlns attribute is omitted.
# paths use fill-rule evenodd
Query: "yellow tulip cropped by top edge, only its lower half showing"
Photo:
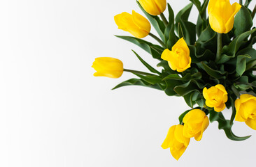
<svg viewBox="0 0 256 167"><path fill-rule="evenodd" d="M138 0L138 2L150 15L160 15L166 9L166 0Z"/></svg>

